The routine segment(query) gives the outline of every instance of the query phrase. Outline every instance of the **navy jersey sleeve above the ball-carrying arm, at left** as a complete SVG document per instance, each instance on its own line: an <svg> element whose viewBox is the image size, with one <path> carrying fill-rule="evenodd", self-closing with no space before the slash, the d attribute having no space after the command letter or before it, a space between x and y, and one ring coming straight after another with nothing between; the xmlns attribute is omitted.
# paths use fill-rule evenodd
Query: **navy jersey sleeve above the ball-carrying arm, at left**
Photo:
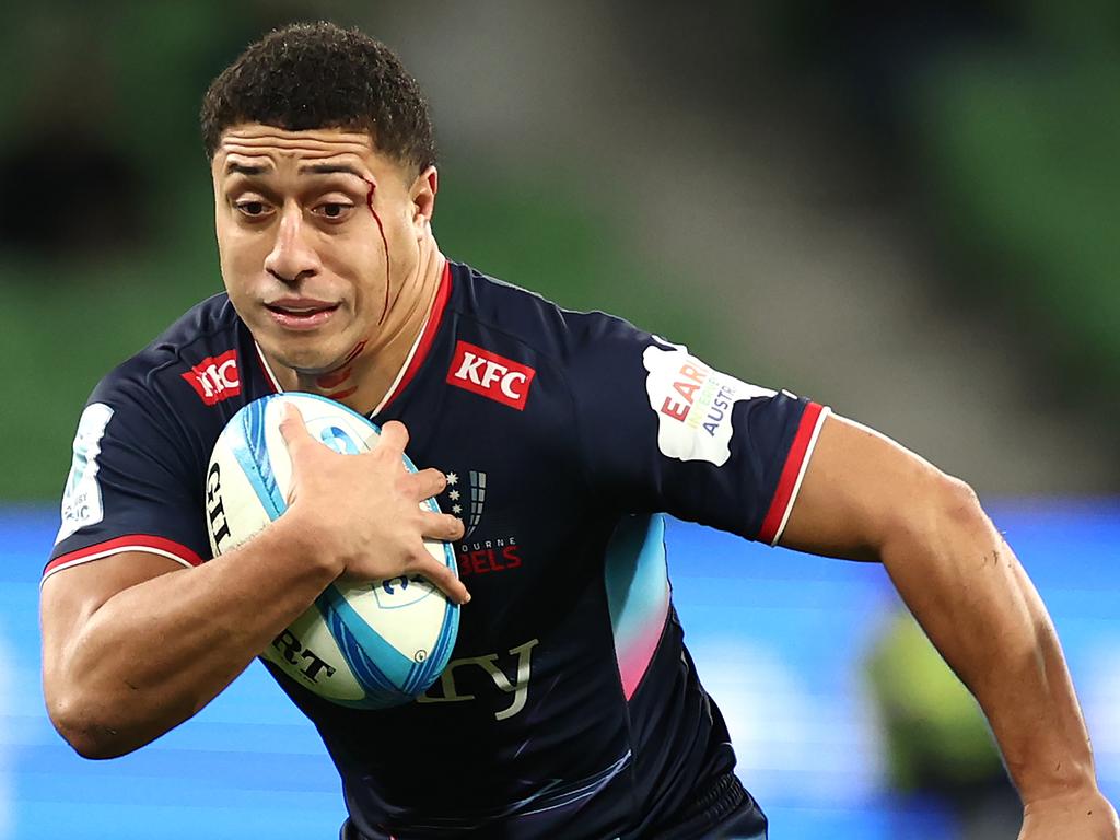
<svg viewBox="0 0 1120 840"><path fill-rule="evenodd" d="M184 566L209 557L188 436L156 392L114 372L78 420L62 525L44 578L123 551Z"/></svg>

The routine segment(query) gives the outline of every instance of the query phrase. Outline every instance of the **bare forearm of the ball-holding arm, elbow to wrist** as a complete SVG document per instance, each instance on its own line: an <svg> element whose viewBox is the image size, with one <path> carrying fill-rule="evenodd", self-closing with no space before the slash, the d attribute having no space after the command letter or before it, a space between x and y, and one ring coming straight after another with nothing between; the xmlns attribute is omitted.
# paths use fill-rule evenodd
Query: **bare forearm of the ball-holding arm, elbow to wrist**
<svg viewBox="0 0 1120 840"><path fill-rule="evenodd" d="M67 739L91 757L128 753L222 691L333 579L290 533L278 522L241 550L102 605L58 663Z"/></svg>

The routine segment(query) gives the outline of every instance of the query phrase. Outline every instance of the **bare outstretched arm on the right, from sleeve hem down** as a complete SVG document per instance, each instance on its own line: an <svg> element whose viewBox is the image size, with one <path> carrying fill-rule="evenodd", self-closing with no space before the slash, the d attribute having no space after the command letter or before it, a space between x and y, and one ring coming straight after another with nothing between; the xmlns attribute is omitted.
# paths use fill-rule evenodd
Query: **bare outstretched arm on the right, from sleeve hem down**
<svg viewBox="0 0 1120 840"><path fill-rule="evenodd" d="M1112 819L1054 625L965 484L869 429L829 418L781 543L884 563L987 713L1028 823L1033 809L1079 797L1098 802L1101 827Z"/></svg>

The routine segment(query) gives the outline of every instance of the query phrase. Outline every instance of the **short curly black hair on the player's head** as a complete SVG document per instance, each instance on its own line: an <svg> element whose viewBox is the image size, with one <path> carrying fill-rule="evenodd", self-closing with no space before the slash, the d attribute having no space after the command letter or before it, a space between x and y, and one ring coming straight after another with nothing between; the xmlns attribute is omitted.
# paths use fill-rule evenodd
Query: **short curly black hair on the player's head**
<svg viewBox="0 0 1120 840"><path fill-rule="evenodd" d="M206 157L246 122L289 131L368 132L374 147L423 171L436 162L428 103L384 44L334 24L293 24L252 44L214 80L202 108Z"/></svg>

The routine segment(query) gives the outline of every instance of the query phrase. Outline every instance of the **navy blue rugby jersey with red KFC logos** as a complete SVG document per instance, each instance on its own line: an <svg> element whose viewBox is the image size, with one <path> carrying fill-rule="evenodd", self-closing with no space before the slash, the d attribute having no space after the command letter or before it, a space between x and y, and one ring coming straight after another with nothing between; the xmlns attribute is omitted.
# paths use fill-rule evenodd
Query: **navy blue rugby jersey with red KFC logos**
<svg viewBox="0 0 1120 840"><path fill-rule="evenodd" d="M277 388L224 295L113 371L82 414L47 573L128 550L205 562L211 450ZM752 811L683 644L661 513L775 542L825 413L449 265L371 419L408 426L464 521L451 661L385 711L269 666L338 767L348 830L694 838Z"/></svg>

